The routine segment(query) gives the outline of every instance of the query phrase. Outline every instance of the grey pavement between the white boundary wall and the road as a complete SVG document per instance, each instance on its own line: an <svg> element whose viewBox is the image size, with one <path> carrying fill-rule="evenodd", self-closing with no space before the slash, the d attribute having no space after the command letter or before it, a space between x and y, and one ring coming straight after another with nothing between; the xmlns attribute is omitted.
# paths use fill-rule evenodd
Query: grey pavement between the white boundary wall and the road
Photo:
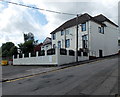
<svg viewBox="0 0 120 97"><path fill-rule="evenodd" d="M22 79L22 78L29 77L29 76L40 75L40 74L47 73L47 72L52 72L52 71L56 71L56 70L60 70L60 69L64 69L64 68L68 68L68 67L72 67L72 66L77 66L77 65L83 65L86 63L91 63L91 62L104 60L104 59L108 59L108 58L113 58L113 57L117 57L117 56L111 56L111 57L107 57L107 58L98 58L98 59L94 59L94 60L86 60L86 61L81 61L81 62L74 62L74 63L70 63L70 64L63 64L62 66L56 66L56 67L36 66L35 68L33 68L34 66L28 66L27 69L25 68L24 70L21 70L19 72L16 72L18 70L15 71L15 68L13 68L13 67L24 68L25 66L23 66L23 67L22 66L9 66L10 69L13 68L13 71L15 73L11 73L10 71L6 72L7 70L2 70L3 74L1 77L2 79L0 79L0 82L7 82L7 81L11 81L11 80L20 79L20 78ZM29 67L32 67L32 68L29 69Z"/></svg>

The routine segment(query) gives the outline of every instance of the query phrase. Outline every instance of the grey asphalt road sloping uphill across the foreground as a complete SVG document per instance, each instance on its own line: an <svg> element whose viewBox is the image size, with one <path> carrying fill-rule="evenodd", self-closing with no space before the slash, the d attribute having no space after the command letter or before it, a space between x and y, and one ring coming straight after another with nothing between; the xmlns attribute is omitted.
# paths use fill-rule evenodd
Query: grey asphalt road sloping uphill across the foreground
<svg viewBox="0 0 120 97"><path fill-rule="evenodd" d="M3 95L115 95L118 57L5 82Z"/></svg>

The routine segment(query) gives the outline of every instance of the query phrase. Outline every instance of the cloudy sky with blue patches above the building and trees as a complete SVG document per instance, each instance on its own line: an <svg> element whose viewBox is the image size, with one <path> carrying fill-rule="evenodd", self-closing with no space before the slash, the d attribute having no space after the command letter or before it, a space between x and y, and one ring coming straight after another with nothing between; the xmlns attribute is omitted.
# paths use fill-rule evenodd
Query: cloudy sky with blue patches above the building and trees
<svg viewBox="0 0 120 97"><path fill-rule="evenodd" d="M72 14L103 14L118 23L119 0L6 0L46 10ZM0 0L0 46L24 42L23 33L32 32L36 40L43 42L50 33L74 15L63 15L8 4Z"/></svg>

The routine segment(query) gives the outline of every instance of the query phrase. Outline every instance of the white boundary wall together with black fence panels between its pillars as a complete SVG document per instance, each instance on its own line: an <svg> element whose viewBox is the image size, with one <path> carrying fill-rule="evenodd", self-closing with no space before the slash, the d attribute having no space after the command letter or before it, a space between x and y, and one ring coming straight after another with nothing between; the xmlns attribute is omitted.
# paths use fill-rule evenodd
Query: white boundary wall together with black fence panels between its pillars
<svg viewBox="0 0 120 97"><path fill-rule="evenodd" d="M88 60L88 56L83 56L79 52L79 61ZM47 51L18 54L13 56L13 65L62 65L76 61L76 53L73 50L49 49Z"/></svg>

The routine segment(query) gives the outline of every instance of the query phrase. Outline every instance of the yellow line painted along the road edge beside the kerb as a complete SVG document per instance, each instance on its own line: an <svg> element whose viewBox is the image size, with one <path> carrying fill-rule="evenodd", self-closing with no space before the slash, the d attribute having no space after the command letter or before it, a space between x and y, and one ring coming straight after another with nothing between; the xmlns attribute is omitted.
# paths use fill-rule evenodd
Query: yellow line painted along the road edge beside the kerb
<svg viewBox="0 0 120 97"><path fill-rule="evenodd" d="M61 71L61 70L69 69L69 68L73 68L73 67L80 67L80 66L82 66L82 65L91 64L91 63L97 63L97 62L104 61L104 60L105 60L105 59L96 60L96 61L88 62L88 63L82 63L82 64L79 64L79 65L76 65L76 66L68 66L68 67L59 68L59 69L52 70L52 71L47 71L47 72L42 72L42 73L38 73L38 74L28 75L28 76L25 76L25 77L22 77L22 78L11 79L11 80L8 80L8 81L5 81L5 82L14 82L14 81L18 81L18 80L23 80L23 79L35 77L35 76L42 75L42 74L47 74L47 73L50 73L50 72ZM2 83L3 83L3 82L2 82Z"/></svg>

